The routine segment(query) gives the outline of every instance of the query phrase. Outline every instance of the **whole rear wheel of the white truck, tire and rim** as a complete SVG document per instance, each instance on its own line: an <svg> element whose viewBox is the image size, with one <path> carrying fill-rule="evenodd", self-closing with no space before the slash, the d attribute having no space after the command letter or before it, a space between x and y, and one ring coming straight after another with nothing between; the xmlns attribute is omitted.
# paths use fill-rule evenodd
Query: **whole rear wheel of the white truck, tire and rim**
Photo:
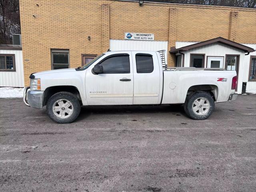
<svg viewBox="0 0 256 192"><path fill-rule="evenodd" d="M186 114L195 120L204 120L210 117L214 110L214 99L208 92L190 94L184 103Z"/></svg>

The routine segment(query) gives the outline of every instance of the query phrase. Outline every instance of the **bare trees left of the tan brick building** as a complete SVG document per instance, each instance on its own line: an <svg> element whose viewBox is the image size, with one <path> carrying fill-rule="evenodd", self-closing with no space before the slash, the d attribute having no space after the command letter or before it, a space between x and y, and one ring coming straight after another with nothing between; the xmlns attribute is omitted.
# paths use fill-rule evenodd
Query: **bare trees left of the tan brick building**
<svg viewBox="0 0 256 192"><path fill-rule="evenodd" d="M13 34L20 34L19 0L0 0L0 44L11 44Z"/></svg>

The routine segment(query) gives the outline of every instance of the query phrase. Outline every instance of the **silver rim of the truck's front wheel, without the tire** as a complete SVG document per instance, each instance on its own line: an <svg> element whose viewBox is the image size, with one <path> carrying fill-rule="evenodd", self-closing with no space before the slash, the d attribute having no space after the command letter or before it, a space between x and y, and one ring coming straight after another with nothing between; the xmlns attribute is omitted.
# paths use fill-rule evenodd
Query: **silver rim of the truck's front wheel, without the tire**
<svg viewBox="0 0 256 192"><path fill-rule="evenodd" d="M74 108L73 104L69 100L60 99L54 102L52 111L58 118L65 119L73 114Z"/></svg>

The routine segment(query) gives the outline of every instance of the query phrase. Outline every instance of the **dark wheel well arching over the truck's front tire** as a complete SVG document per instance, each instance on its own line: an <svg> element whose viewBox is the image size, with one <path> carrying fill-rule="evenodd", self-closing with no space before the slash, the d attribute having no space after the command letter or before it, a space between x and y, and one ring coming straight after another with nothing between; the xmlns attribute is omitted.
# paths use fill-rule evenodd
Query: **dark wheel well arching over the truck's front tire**
<svg viewBox="0 0 256 192"><path fill-rule="evenodd" d="M46 90L44 91L43 106L46 105L47 101L51 96L62 91L66 91L74 94L75 96L77 96L78 100L82 102L80 93L75 86L52 86L52 87L46 88Z"/></svg>

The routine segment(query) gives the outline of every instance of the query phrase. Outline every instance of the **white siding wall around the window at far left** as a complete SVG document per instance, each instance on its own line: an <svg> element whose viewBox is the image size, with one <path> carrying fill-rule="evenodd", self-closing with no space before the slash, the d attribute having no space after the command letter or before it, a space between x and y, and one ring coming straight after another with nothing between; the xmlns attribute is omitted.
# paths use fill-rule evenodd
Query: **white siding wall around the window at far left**
<svg viewBox="0 0 256 192"><path fill-rule="evenodd" d="M0 50L0 54L15 54L16 72L0 72L0 87L24 87L22 50Z"/></svg>

